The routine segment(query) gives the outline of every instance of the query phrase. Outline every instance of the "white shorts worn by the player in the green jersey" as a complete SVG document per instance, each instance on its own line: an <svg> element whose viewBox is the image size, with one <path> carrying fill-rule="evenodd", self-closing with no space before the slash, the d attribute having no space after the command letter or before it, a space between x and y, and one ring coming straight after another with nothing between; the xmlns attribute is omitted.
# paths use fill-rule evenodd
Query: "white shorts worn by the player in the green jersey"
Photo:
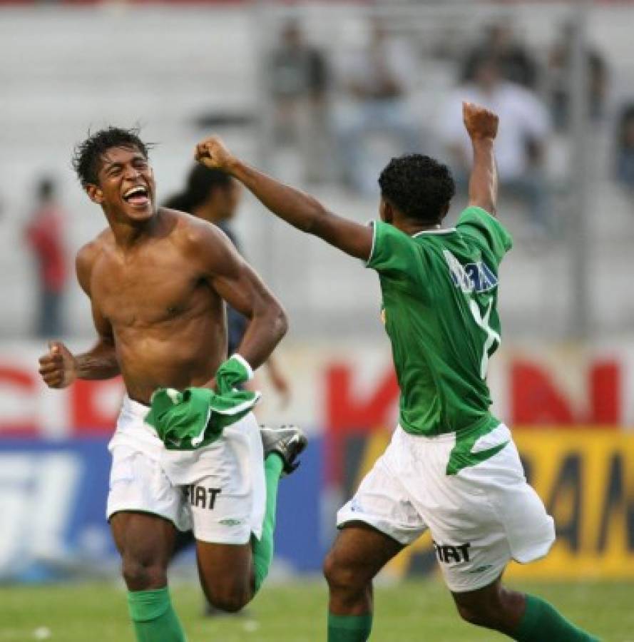
<svg viewBox="0 0 634 642"><path fill-rule="evenodd" d="M337 526L362 521L404 545L429 528L449 590L488 586L511 559L539 559L555 541L553 518L526 483L508 428L500 424L471 452L504 442L493 457L448 475L454 433L419 437L398 427Z"/></svg>

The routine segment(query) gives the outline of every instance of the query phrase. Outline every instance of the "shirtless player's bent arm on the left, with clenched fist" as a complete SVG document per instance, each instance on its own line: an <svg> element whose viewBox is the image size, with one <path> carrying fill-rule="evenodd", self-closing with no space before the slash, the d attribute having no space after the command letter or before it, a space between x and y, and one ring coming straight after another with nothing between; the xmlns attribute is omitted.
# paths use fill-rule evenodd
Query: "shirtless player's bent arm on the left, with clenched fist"
<svg viewBox="0 0 634 642"><path fill-rule="evenodd" d="M76 260L79 285L88 297L93 248L86 245ZM73 355L61 341L48 343L48 352L40 357L39 372L49 388L66 388L76 379L111 379L119 374L112 327L91 299L97 342L91 350Z"/></svg>

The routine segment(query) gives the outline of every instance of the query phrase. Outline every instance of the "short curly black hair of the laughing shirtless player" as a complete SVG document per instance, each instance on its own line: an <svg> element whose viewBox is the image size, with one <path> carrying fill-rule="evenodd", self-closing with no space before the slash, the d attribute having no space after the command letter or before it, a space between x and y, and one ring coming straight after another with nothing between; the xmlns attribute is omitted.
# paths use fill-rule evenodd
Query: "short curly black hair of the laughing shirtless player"
<svg viewBox="0 0 634 642"><path fill-rule="evenodd" d="M97 184L101 157L113 147L136 148L148 158L151 145L143 143L138 135L138 128L107 127L95 133L88 132L88 138L79 143L73 152L73 169L81 185L86 187Z"/></svg>

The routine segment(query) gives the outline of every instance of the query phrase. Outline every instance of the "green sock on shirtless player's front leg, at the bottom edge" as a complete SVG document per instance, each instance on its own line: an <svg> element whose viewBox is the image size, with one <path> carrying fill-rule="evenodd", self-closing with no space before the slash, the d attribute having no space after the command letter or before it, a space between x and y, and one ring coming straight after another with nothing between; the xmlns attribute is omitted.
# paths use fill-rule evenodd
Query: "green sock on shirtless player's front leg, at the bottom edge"
<svg viewBox="0 0 634 642"><path fill-rule="evenodd" d="M128 610L137 642L187 642L167 586L155 591L128 591Z"/></svg>

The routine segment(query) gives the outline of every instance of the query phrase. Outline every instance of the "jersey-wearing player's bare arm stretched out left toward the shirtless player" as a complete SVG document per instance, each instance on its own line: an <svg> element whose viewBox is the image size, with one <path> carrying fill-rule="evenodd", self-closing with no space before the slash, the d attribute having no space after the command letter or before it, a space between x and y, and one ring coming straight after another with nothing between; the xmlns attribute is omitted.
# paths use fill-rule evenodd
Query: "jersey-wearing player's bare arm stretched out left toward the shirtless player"
<svg viewBox="0 0 634 642"><path fill-rule="evenodd" d="M329 212L312 196L242 163L231 155L219 138L207 138L199 143L196 160L240 180L265 208L298 230L319 236L351 256L369 259L372 252L371 228Z"/></svg>

